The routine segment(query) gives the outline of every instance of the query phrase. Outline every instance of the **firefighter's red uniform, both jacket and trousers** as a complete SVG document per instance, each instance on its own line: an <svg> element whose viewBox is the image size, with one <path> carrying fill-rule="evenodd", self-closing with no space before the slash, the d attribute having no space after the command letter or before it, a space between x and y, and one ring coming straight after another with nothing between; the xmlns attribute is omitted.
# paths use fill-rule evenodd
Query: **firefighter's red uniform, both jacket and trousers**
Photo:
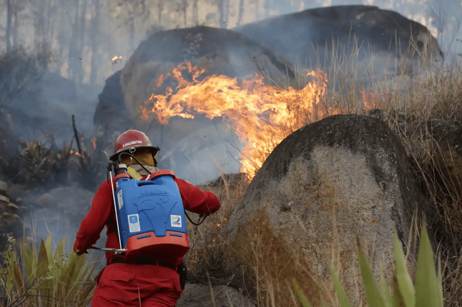
<svg viewBox="0 0 462 307"><path fill-rule="evenodd" d="M146 177L143 177L143 180ZM216 212L220 201L212 192L203 191L185 180L175 178L185 210L199 214ZM116 189L114 187L114 189ZM96 192L91 209L82 220L74 243L74 251L85 253L97 242L107 227L107 248L120 248L117 236L116 213L109 182ZM148 256L149 257L149 256ZM112 263L114 252L106 252L107 265L99 273L92 307L141 306L174 307L182 291L178 273L164 266ZM160 260L159 260L160 261ZM162 260L164 261L164 260ZM170 259L177 266L182 258Z"/></svg>

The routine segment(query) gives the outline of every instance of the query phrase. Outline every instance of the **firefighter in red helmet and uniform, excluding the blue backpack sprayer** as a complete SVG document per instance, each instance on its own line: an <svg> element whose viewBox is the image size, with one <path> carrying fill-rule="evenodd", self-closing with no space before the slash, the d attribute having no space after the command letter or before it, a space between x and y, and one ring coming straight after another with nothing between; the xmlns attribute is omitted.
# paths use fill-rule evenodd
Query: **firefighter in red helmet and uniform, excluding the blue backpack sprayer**
<svg viewBox="0 0 462 307"><path fill-rule="evenodd" d="M157 168L158 147L152 146L148 137L141 131L128 130L116 140L115 161L119 153L129 152L150 172ZM144 180L149 174L128 155L122 155L128 166L130 177ZM180 190L185 210L209 215L220 207L220 201L212 192L203 191L180 178L174 179ZM113 183L114 184L114 181ZM114 185L115 189L115 185ZM82 220L73 246L78 254L87 253L97 242L104 226L107 228L106 248L119 248L116 215L112 188L109 181L101 184L93 198L91 209ZM106 267L96 279L92 307L174 307L182 294L179 266L182 258L162 262L154 256L135 260L131 263L114 252L106 252ZM152 258L152 259L150 259Z"/></svg>

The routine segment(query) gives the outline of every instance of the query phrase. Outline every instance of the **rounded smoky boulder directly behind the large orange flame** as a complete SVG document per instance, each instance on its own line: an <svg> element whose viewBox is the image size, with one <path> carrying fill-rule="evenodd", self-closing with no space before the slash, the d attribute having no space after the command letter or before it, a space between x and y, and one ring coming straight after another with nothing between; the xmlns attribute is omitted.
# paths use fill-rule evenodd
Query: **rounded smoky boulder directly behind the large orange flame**
<svg viewBox="0 0 462 307"><path fill-rule="evenodd" d="M281 87L296 84L286 59L243 34L205 26L159 31L141 42L122 69L122 93L132 118L141 116L140 106L151 94L165 94L167 87L179 85L173 78L173 83L158 86L158 79L188 61L205 69L198 80L212 74L243 78L257 72ZM191 75L183 77L192 81Z"/></svg>

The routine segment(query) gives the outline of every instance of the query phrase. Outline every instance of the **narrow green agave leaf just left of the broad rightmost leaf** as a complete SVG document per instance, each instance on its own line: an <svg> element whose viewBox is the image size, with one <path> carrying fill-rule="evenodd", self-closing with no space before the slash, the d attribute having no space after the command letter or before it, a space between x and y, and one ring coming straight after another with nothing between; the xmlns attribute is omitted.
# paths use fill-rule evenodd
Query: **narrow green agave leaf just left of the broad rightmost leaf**
<svg viewBox="0 0 462 307"><path fill-rule="evenodd" d="M398 233L395 229L395 266L396 266L396 279L398 288L402 295L402 299L406 307L415 306L414 285L411 276L407 272L406 259L401 248L401 243L398 238Z"/></svg>

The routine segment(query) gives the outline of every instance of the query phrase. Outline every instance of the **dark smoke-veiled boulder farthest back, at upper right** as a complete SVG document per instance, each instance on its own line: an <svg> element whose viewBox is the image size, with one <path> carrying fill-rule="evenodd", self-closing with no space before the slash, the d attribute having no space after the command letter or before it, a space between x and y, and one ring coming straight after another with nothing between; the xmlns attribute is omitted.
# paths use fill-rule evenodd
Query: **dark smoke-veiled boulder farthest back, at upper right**
<svg viewBox="0 0 462 307"><path fill-rule="evenodd" d="M438 41L422 24L377 6L328 6L268 18L233 30L271 48L293 64L322 68L345 61L365 60L359 66L364 78L387 73L413 73L419 58L413 44L431 62L441 64ZM412 42L414 41L414 43ZM358 51L358 53L356 53ZM372 61L373 59L373 61ZM410 64L396 71L395 60ZM409 61L412 59L412 61ZM373 62L373 63L372 63ZM353 66L356 67L356 66ZM340 67L344 70L345 67Z"/></svg>

